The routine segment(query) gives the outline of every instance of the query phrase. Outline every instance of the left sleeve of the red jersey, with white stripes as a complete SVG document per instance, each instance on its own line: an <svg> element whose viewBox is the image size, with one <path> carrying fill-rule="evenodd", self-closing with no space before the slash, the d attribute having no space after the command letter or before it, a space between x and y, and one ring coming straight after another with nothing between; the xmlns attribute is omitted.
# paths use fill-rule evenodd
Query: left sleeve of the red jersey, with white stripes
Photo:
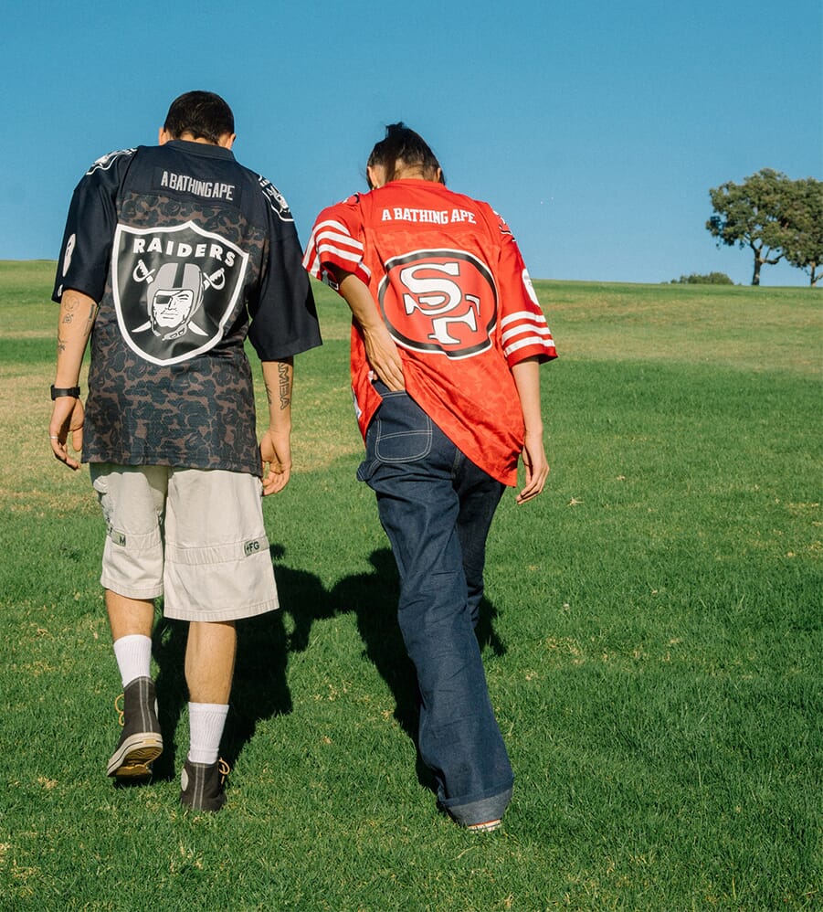
<svg viewBox="0 0 823 912"><path fill-rule="evenodd" d="M357 196L344 203L323 209L311 229L311 238L303 256L303 269L315 279L337 287L334 276L327 267L351 272L358 279L369 283L371 272L363 261L363 243L357 238L359 207Z"/></svg>

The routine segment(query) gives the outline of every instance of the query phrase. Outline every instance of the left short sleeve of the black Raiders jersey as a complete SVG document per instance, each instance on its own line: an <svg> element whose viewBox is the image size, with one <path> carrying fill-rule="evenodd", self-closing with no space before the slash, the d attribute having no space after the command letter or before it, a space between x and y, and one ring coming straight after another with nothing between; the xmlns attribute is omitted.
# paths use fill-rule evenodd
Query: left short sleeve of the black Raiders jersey
<svg viewBox="0 0 823 912"><path fill-rule="evenodd" d="M136 150L104 155L91 165L71 197L60 246L52 300L73 288L99 302L106 288L111 243L117 228L117 196Z"/></svg>

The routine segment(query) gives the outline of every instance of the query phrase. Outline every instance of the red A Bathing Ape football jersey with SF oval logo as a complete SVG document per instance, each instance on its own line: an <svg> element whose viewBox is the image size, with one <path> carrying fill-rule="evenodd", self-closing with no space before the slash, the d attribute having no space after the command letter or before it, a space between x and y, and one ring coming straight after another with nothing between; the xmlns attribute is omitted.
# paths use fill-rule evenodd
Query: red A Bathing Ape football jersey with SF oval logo
<svg viewBox="0 0 823 912"><path fill-rule="evenodd" d="M512 232L487 203L424 180L396 180L324 209L303 266L370 288L403 360L406 390L471 461L517 481L523 445L511 367L557 356ZM352 329L352 385L365 436L380 405Z"/></svg>

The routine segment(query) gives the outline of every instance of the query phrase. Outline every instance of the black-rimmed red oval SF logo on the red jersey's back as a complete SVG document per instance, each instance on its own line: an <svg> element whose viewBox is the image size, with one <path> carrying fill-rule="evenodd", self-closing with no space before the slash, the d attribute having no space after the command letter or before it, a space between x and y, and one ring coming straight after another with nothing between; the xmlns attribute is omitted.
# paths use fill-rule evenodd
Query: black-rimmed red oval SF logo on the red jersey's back
<svg viewBox="0 0 823 912"><path fill-rule="evenodd" d="M417 250L385 264L377 300L398 345L468 358L491 348L497 287L463 250Z"/></svg>

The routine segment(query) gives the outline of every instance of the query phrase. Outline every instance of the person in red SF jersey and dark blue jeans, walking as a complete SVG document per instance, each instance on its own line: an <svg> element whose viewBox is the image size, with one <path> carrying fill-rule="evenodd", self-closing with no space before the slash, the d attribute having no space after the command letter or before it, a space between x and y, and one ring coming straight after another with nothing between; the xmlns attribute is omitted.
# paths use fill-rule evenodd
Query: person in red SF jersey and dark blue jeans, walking
<svg viewBox="0 0 823 912"><path fill-rule="evenodd" d="M512 232L447 189L427 143L386 128L354 194L317 218L303 265L353 313L352 384L400 577L398 620L417 670L418 748L440 806L490 830L513 774L474 634L491 519L506 485L543 491L539 365L554 342Z"/></svg>

